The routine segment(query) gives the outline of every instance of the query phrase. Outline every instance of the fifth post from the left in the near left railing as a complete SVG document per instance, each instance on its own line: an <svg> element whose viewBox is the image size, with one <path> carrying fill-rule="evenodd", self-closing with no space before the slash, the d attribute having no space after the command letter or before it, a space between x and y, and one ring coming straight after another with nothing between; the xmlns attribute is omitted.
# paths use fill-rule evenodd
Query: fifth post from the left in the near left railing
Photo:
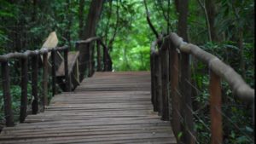
<svg viewBox="0 0 256 144"><path fill-rule="evenodd" d="M52 96L55 95L56 92L56 72L55 72L55 49L51 50L51 77L52 77Z"/></svg>

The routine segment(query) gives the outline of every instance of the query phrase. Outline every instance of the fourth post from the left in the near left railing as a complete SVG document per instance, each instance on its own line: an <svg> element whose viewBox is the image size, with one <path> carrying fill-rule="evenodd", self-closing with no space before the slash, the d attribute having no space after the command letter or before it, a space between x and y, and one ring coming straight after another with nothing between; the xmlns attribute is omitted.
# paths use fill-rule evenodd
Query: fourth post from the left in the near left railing
<svg viewBox="0 0 256 144"><path fill-rule="evenodd" d="M48 105L48 52L43 54L43 101L44 101L44 108Z"/></svg>

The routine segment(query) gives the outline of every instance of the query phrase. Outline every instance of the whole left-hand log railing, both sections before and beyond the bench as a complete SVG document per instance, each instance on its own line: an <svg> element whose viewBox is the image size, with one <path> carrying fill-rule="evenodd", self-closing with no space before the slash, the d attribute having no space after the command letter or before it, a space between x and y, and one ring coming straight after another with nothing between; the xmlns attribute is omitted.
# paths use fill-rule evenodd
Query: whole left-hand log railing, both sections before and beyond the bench
<svg viewBox="0 0 256 144"><path fill-rule="evenodd" d="M52 38L52 37L50 37ZM94 52L94 42L96 42L97 46L97 55L96 55L96 62L94 60L95 52ZM110 55L108 54L107 47L102 43L99 37L91 37L84 41L78 41L76 43L76 47L82 47L85 45L86 49L86 59L80 60L80 65L85 64L86 69L88 70L87 77L91 77L95 72L95 66L97 66L96 71L112 71L112 61L110 59ZM101 54L101 47L103 48L103 55ZM63 52L64 54L64 73L65 73L65 89L64 91L71 91L72 89L72 80L71 74L73 71L74 61L68 61L68 47L56 47L56 48L42 48L40 50L30 51L27 50L24 53L9 53L7 55L0 55L0 63L2 68L2 79L3 79L3 103L4 103L4 115L5 115L5 123L7 127L11 127L15 125L14 121L14 112L12 109L12 96L10 93L10 73L9 73L9 61L12 59L20 60L21 62L21 100L20 100L20 123L25 121L27 115L27 85L28 85L28 66L32 66L32 114L38 113L38 101L41 99L43 101L43 107L48 105L48 92L49 92L49 85L51 86L53 96L56 94L56 72L58 72L58 68L56 66L56 55L57 53L60 54ZM50 53L50 63L49 63L49 53ZM77 52L79 55L79 52ZM102 62L103 57L103 62ZM43 60L39 62L40 58ZM43 67L43 96L38 96L38 69L41 66L38 66L42 63ZM59 62L60 63L60 62ZM71 64L69 64L71 63ZM103 63L103 68L102 68ZM49 71L49 66L51 70ZM59 64L59 67L60 66ZM60 73L62 73L61 70ZM79 71L79 70L78 70ZM49 72L51 72L51 84L49 82ZM84 77L84 76L83 76ZM43 108L44 109L44 108Z"/></svg>

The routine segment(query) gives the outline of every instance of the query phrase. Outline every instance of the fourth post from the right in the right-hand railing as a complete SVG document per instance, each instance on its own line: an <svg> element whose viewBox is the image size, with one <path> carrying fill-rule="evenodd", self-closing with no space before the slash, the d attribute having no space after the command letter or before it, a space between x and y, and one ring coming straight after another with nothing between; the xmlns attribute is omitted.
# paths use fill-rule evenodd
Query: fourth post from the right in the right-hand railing
<svg viewBox="0 0 256 144"><path fill-rule="evenodd" d="M169 59L168 47L166 42L162 44L160 49L160 63L161 63L161 79L162 79L162 120L169 120Z"/></svg>

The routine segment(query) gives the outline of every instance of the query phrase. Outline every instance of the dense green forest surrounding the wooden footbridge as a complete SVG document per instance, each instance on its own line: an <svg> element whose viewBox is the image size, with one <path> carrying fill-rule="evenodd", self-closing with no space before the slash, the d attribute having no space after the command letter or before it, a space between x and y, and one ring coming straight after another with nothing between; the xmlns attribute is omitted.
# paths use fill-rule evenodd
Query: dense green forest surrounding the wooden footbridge
<svg viewBox="0 0 256 144"><path fill-rule="evenodd" d="M58 45L78 50L75 42L90 31L92 3L102 3L102 8L96 9L95 36L102 37L108 46L113 71L149 71L150 44L160 35L177 32L184 41L224 60L254 88L253 0L0 0L0 55L40 49L53 31ZM20 69L15 67L20 64L13 60L9 65L13 67L11 93L18 115ZM191 71L196 139L210 143L207 66L192 58ZM222 86L224 143L253 143L252 109L232 95L228 84L223 82Z"/></svg>

